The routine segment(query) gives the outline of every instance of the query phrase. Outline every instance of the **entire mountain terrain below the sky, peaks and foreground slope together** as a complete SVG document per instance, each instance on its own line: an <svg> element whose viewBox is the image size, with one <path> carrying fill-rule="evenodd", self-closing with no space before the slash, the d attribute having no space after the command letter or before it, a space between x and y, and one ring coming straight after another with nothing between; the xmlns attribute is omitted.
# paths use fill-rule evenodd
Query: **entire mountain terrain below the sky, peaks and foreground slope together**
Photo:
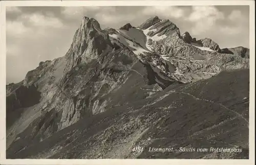
<svg viewBox="0 0 256 165"><path fill-rule="evenodd" d="M177 147L167 140L176 135L183 146L194 142L190 136L226 142L230 126L243 133L230 131L242 155L197 157L246 157L249 59L232 51L208 38L180 35L173 22L157 16L117 30L102 30L97 20L83 17L65 56L40 62L22 82L7 85L7 158L167 158L130 148ZM212 91L219 82L226 91ZM90 146L105 147L92 153Z"/></svg>

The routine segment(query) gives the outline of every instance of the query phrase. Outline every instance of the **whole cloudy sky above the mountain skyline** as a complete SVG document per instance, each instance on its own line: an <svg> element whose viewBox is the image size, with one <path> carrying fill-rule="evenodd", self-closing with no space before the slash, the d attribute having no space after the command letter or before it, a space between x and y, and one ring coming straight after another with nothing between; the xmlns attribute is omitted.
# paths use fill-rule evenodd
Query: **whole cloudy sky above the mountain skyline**
<svg viewBox="0 0 256 165"><path fill-rule="evenodd" d="M6 7L6 82L22 81L40 61L64 56L83 16L117 29L155 15L220 48L249 48L249 6Z"/></svg>

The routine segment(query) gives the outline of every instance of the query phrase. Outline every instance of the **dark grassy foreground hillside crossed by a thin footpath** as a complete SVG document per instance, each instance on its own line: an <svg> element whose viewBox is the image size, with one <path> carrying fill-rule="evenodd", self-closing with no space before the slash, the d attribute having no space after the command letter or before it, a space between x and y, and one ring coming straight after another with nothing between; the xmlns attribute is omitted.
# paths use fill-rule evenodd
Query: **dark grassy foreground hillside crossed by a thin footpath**
<svg viewBox="0 0 256 165"><path fill-rule="evenodd" d="M86 117L42 142L32 136L30 126L9 148L7 158L248 158L248 88L248 69L170 85L150 98ZM145 149L133 152L136 146ZM147 152L160 146L242 152Z"/></svg>

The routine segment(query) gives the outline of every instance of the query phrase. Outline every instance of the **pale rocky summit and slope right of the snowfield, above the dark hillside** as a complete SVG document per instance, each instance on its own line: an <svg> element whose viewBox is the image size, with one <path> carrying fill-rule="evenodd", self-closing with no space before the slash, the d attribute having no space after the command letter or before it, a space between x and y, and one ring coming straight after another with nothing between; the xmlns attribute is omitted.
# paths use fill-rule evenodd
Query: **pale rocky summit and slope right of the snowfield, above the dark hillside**
<svg viewBox="0 0 256 165"><path fill-rule="evenodd" d="M148 21L142 25L145 25L146 22ZM166 26L163 26L163 22ZM196 42L190 41L191 44L187 43L180 35L176 25L169 20L160 20L144 32L151 50L175 66L176 71L171 75L177 81L193 82L207 79L220 73L221 70L248 68L249 60L241 56L219 53L219 45L211 39L206 38ZM152 37L151 34L154 36ZM191 40L190 35L187 33L185 35ZM153 40L150 41L150 39Z"/></svg>

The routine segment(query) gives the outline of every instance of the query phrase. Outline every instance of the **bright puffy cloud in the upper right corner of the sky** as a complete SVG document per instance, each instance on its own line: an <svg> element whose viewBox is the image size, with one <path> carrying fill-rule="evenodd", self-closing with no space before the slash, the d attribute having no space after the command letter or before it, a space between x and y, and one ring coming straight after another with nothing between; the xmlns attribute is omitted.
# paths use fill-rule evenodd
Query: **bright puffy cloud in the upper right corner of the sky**
<svg viewBox="0 0 256 165"><path fill-rule="evenodd" d="M240 10L232 10L229 14L219 11L215 6L195 6L187 18L192 24L194 35L212 33L221 36L238 35L248 26L246 17Z"/></svg>

